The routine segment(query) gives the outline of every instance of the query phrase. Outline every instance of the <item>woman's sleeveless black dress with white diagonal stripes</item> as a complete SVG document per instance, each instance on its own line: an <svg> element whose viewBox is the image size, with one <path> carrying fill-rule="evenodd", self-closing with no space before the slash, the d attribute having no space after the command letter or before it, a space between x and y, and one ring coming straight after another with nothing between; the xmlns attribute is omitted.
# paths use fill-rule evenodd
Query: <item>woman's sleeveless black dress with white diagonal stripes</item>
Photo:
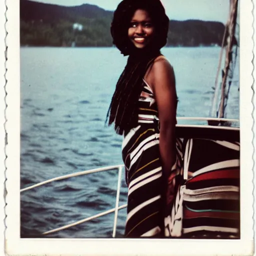
<svg viewBox="0 0 256 256"><path fill-rule="evenodd" d="M177 160L169 175L170 189L167 190L170 190L170 196L166 196L168 191L164 185L166 181L162 175L159 152L157 105L151 88L144 80L143 83L138 102L138 125L124 134L122 142L128 185L125 236L164 237L170 235L167 229L173 228L172 221L166 220L170 218L168 213L173 205L173 193L178 190L171 183L182 172L181 141L176 140Z"/></svg>

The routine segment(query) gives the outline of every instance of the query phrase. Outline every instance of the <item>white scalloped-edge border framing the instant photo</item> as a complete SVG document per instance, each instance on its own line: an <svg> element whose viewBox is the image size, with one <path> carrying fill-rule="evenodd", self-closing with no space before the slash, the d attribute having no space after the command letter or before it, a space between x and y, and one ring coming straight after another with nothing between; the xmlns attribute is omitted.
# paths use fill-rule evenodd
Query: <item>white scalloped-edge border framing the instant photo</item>
<svg viewBox="0 0 256 256"><path fill-rule="evenodd" d="M238 240L20 238L19 0L7 4L6 232L8 255L252 255L252 2L240 1L240 223Z"/></svg>

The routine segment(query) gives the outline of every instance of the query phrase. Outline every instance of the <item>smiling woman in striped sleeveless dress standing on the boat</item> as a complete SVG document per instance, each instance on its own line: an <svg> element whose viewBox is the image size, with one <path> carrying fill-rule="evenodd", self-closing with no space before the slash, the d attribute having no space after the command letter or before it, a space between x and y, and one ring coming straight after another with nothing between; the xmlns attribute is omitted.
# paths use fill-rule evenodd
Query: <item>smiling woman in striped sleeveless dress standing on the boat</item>
<svg viewBox="0 0 256 256"><path fill-rule="evenodd" d="M164 227L165 206L175 197L181 143L174 72L160 53L168 23L159 0L123 0L111 25L113 43L129 55L108 111L109 124L124 135L126 237L164 237L172 228Z"/></svg>

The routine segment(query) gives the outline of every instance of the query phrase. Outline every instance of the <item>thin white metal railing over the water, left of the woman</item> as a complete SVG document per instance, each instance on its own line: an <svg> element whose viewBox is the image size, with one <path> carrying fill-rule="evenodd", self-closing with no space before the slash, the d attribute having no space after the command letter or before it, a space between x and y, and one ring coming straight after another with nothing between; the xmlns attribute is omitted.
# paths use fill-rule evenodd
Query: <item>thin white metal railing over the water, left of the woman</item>
<svg viewBox="0 0 256 256"><path fill-rule="evenodd" d="M121 188L121 173L122 173L122 168L123 168L123 166L124 166L123 164L120 164L120 165L112 165L112 166L105 166L105 167L100 167L100 168L96 168L96 169L78 171L78 172L74 172L74 173L71 173L71 174L58 176L58 177L51 178L51 179L47 179L47 180L45 180L45 181L39 182L39 183L37 183L37 184L31 185L31 186L28 186L28 187L25 187L25 188L22 188L22 189L20 189L20 192L24 192L24 191L30 190L30 189L32 189L32 188L39 187L39 186L48 184L48 183L53 182L53 181L63 180L63 179L67 179L67 178L71 178L71 177L76 177L76 176L81 176L81 175L87 175L87 174L90 174L90 173L95 173L95 172L100 172L100 171L107 171L107 170L118 169L118 179L117 179L117 188L116 188L116 199L115 199L115 207L114 207L114 208L109 209L109 210L106 210L106 211L104 211L104 212L100 212L100 213L98 213L98 214L95 214L95 215L93 215L93 216L90 216L90 217L87 217L87 218L84 218L84 219L81 219L81 220L78 220L78 221L75 221L75 222L73 222L73 223L70 223L70 224L67 224L67 225L63 225L63 226L58 227L58 228L51 229L51 230L49 230L49 231L46 231L46 232L43 232L43 233L42 233L43 235L46 235L46 234L58 232L58 231L60 231L60 230L67 229L67 228L69 228L69 227L72 227L72 226L75 226L75 225L84 223L84 222L86 222L86 221L89 221L89 220L92 220L92 219L95 219L95 218L98 218L98 217L101 217L101 216L104 216L104 215L107 215L107 214L110 214L110 213L114 212L114 221L113 221L113 233L112 233L112 237L115 237L118 210L127 207L127 204L123 204L123 205L119 206L119 195L120 195L120 188Z"/></svg>

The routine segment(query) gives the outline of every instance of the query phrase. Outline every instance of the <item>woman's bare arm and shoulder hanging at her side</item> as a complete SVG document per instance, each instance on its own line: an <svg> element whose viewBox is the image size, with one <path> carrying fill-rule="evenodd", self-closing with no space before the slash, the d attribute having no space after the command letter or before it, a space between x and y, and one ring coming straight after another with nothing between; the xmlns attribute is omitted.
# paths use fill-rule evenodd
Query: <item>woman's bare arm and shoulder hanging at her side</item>
<svg viewBox="0 0 256 256"><path fill-rule="evenodd" d="M168 177L176 161L175 124L176 124L176 89L173 68L168 60L159 56L148 70L146 81L155 95L160 121L159 150L163 174Z"/></svg>

